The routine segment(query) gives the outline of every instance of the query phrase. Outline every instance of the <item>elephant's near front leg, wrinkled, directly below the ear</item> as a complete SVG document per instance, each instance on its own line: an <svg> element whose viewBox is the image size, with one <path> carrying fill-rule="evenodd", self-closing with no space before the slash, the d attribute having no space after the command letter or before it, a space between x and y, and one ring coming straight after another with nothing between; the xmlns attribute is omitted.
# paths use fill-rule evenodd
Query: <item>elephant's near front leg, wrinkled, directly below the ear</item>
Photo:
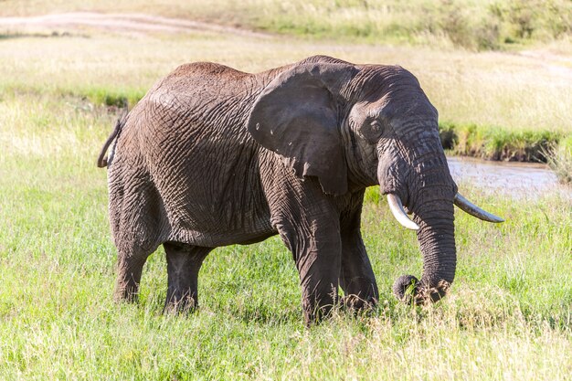
<svg viewBox="0 0 572 381"><path fill-rule="evenodd" d="M302 308L307 325L320 321L338 302L342 243L338 217L302 217L296 225L279 224L300 274Z"/></svg>

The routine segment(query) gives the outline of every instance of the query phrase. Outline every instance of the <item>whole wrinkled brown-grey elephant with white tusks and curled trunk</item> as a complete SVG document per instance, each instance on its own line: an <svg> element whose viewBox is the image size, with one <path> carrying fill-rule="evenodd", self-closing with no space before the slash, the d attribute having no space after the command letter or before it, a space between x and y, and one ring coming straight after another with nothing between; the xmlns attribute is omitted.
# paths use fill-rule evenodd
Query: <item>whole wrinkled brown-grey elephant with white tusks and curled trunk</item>
<svg viewBox="0 0 572 381"><path fill-rule="evenodd" d="M98 165L107 166L118 251L114 299L137 299L145 260L163 245L165 311L196 309L198 272L212 249L276 234L300 275L305 323L342 302L375 306L360 232L368 186L417 231L423 274L396 280L403 301L435 302L448 291L453 205L503 221L458 193L438 111L400 66L314 56L250 74L184 64L118 120Z"/></svg>

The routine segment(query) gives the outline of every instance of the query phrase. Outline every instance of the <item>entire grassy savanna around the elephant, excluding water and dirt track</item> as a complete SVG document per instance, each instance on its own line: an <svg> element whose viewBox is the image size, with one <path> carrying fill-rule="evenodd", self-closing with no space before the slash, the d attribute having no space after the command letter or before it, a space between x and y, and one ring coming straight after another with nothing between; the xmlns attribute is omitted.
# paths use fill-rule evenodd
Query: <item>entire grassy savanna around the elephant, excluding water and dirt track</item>
<svg viewBox="0 0 572 381"><path fill-rule="evenodd" d="M162 313L163 249L145 265L140 302L114 303L107 179L96 166L119 107L182 63L255 72L325 54L412 71L452 131L450 153L547 161L566 183L569 2L136 3L0 1L1 17L94 11L225 26L0 23L0 379L572 379L570 185L514 196L460 182L506 222L457 209L450 294L418 307L391 291L399 275L421 273L415 233L368 189L362 233L379 306L306 328L277 237L213 251L189 316Z"/></svg>

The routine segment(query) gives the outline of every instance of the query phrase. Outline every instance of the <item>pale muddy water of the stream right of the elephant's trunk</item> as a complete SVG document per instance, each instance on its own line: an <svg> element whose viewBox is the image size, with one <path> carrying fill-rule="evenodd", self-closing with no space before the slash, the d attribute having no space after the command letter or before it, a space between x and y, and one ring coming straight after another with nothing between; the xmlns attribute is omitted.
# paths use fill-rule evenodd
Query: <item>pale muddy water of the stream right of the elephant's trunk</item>
<svg viewBox="0 0 572 381"><path fill-rule="evenodd" d="M572 197L572 188L558 184L556 175L544 164L490 162L448 157L450 174L458 185L470 183L512 196L536 196L562 192Z"/></svg>

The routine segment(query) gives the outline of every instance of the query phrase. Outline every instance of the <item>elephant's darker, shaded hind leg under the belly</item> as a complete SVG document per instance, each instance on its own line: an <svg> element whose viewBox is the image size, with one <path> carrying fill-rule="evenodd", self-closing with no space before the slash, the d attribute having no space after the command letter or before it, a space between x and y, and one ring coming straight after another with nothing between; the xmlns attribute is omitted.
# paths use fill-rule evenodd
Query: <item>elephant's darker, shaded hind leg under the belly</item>
<svg viewBox="0 0 572 381"><path fill-rule="evenodd" d="M212 248L165 242L168 288L165 312L189 312L198 306L198 271Z"/></svg>

